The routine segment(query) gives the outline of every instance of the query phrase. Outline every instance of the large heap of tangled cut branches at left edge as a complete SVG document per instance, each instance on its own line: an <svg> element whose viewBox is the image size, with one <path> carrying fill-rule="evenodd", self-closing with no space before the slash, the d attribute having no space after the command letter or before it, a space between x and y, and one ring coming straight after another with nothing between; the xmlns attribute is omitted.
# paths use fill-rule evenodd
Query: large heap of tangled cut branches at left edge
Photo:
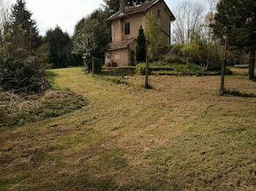
<svg viewBox="0 0 256 191"><path fill-rule="evenodd" d="M48 87L44 66L37 57L0 58L0 91L39 93Z"/></svg>

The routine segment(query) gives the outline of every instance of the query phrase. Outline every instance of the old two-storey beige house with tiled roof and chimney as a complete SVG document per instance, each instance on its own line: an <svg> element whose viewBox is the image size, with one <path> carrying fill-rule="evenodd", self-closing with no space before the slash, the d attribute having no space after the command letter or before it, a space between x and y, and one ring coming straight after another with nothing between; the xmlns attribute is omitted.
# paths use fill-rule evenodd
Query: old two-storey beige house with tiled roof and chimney
<svg viewBox="0 0 256 191"><path fill-rule="evenodd" d="M140 26L146 28L146 13L154 12L160 20L160 32L164 36L162 45L170 44L170 23L176 18L164 0L153 0L134 7L125 7L120 0L120 11L108 18L111 22L112 42L105 52L105 63L115 61L118 66L132 66L135 63L135 43Z"/></svg>

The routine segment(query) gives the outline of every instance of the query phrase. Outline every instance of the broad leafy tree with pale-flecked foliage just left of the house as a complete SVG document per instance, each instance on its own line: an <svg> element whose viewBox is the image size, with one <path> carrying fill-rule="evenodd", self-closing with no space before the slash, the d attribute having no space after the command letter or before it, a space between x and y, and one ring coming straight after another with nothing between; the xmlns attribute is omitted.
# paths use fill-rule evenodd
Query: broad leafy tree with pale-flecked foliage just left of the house
<svg viewBox="0 0 256 191"><path fill-rule="evenodd" d="M91 70L91 58L104 58L104 53L110 42L110 28L102 16L102 9L95 10L91 15L83 18L75 26L75 33L72 38L73 52L82 55L88 71ZM99 71L104 64L97 62L95 71Z"/></svg>

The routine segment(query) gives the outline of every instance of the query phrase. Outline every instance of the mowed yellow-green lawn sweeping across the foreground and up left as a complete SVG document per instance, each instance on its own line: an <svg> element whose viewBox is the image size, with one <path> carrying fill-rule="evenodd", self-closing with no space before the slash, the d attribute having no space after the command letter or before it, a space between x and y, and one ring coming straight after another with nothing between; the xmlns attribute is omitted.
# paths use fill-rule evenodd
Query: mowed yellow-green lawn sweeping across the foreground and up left
<svg viewBox="0 0 256 191"><path fill-rule="evenodd" d="M0 190L256 189L256 98L219 95L219 77L129 76L130 85L57 69L89 100L76 112L0 131ZM226 87L256 93L248 79Z"/></svg>

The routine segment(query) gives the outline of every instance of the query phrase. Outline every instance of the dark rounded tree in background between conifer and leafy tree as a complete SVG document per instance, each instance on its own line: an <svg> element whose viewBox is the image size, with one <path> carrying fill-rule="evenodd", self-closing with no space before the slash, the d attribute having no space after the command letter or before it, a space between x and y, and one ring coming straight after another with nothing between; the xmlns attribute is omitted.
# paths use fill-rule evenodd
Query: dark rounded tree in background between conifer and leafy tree
<svg viewBox="0 0 256 191"><path fill-rule="evenodd" d="M50 46L50 62L53 68L64 68L69 65L66 47L69 45L69 34L64 33L59 26L46 31L46 42Z"/></svg>

